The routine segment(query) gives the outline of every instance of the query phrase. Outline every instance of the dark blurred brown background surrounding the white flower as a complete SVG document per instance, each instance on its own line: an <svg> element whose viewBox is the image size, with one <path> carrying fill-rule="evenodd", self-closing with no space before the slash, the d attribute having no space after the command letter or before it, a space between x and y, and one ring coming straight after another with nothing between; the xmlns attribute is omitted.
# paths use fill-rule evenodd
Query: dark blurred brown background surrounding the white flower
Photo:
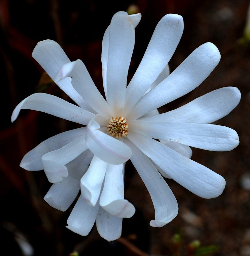
<svg viewBox="0 0 250 256"><path fill-rule="evenodd" d="M134 4L134 6L131 6ZM214 244L212 255L250 255L250 47L243 40L249 1L246 0L0 0L1 130L0 191L1 255L194 255L190 243ZM128 80L133 76L158 21L167 13L184 18L184 33L171 59L170 71L199 45L212 42L222 58L215 70L193 92L164 106L160 112L177 108L196 97L224 86L242 93L239 106L216 124L239 134L240 144L231 152L193 149L192 159L224 176L226 188L215 199L202 199L167 180L179 203L179 214L163 228L152 228L151 198L128 162L125 198L136 207L131 219L123 219L122 237L107 242L94 227L87 237L65 226L73 207L60 212L43 196L51 184L43 171L19 167L22 157L41 141L76 127L68 121L36 111L22 110L11 124L14 107L34 92L47 92L70 99L43 72L31 53L38 41L57 41L70 60L81 59L101 92L101 43L105 29L117 11L141 12ZM131 11L132 10L132 11ZM136 11L138 10L138 11ZM181 251L174 251L174 234L181 234ZM31 252L18 244L27 243ZM179 253L179 254L178 254Z"/></svg>

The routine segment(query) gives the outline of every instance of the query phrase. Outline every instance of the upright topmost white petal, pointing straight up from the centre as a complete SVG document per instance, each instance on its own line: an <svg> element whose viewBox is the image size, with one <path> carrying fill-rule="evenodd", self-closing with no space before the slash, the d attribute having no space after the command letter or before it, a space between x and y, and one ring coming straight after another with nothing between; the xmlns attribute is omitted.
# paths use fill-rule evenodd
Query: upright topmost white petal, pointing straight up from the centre
<svg viewBox="0 0 250 256"><path fill-rule="evenodd" d="M123 109L134 45L132 20L127 12L117 12L110 23L107 60L107 102L114 115Z"/></svg>

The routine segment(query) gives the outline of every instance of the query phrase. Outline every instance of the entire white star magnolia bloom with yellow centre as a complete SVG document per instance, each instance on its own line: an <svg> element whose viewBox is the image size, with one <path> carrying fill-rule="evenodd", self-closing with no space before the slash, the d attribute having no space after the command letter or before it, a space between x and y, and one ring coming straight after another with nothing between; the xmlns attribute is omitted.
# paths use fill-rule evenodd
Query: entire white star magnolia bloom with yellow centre
<svg viewBox="0 0 250 256"><path fill-rule="evenodd" d="M26 170L44 170L52 187L44 199L65 211L79 197L68 228L87 235L94 222L107 240L121 235L122 218L134 206L124 199L124 165L131 160L145 183L155 208L153 227L162 227L178 212L177 201L162 176L172 178L203 198L219 196L225 180L190 157L189 146L213 151L237 147L237 133L210 124L235 108L240 92L224 87L167 113L157 108L201 84L220 60L212 43L202 44L169 74L167 63L183 32L183 19L165 15L156 26L143 59L127 86L141 15L117 12L102 42L105 100L81 60L70 61L54 41L39 42L32 56L77 105L46 93L27 97L13 111L33 109L84 127L63 132L40 143L20 164ZM160 140L160 142L158 141Z"/></svg>

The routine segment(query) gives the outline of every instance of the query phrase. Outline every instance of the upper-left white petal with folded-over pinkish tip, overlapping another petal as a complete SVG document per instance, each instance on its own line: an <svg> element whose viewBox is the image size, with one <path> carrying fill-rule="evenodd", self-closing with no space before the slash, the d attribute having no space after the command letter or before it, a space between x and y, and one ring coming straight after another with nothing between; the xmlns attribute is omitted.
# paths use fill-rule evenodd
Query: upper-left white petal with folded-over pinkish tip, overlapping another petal
<svg viewBox="0 0 250 256"><path fill-rule="evenodd" d="M65 77L71 77L71 83L76 91L99 114L110 117L109 106L96 88L91 76L81 60L66 63L57 73L55 80L60 81Z"/></svg>

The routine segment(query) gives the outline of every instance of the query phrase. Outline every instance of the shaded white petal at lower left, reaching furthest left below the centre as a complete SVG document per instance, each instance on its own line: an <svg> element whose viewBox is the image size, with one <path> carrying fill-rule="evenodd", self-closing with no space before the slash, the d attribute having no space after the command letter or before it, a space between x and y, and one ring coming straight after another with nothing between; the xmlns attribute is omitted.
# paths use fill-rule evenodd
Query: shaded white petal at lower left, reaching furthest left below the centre
<svg viewBox="0 0 250 256"><path fill-rule="evenodd" d="M50 151L62 148L80 136L84 136L86 127L81 127L67 132L59 133L44 140L35 148L30 150L22 159L20 166L27 171L43 170L41 157Z"/></svg>

